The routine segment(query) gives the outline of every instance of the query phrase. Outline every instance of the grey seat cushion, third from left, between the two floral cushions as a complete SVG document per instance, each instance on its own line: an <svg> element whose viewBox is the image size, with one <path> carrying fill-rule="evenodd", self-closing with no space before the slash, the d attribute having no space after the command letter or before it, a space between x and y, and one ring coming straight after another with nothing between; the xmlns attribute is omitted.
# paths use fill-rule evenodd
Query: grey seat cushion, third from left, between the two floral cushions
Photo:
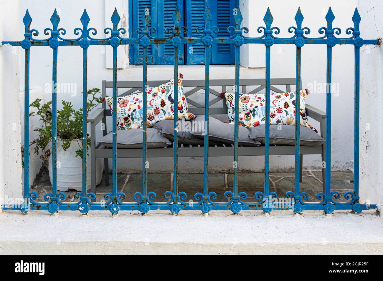
<svg viewBox="0 0 383 281"><path fill-rule="evenodd" d="M198 115L193 122L200 122L205 124L205 116ZM203 132L191 132L191 134L204 138ZM209 140L218 143L234 144L234 125L223 123L214 117L209 116ZM248 128L239 126L238 128L238 144L242 146L258 146L260 142L250 138L250 131Z"/></svg>

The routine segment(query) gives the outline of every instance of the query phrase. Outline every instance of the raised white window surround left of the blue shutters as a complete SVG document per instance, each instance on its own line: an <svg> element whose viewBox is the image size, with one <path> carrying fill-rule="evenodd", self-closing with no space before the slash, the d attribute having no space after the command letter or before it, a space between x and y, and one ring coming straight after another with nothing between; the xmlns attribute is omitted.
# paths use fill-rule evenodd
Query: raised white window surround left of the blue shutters
<svg viewBox="0 0 383 281"><path fill-rule="evenodd" d="M118 15L121 18L118 28L124 28L126 30L125 34L121 34L122 38L129 37L129 26L128 26L128 1L124 0L105 0L105 27L111 27L111 15L113 11L117 8ZM109 34L106 34L105 37L109 37ZM105 59L106 59L106 68L113 68L113 49L112 47L105 46ZM119 45L117 48L117 68L126 68L129 65L129 46L128 45Z"/></svg>

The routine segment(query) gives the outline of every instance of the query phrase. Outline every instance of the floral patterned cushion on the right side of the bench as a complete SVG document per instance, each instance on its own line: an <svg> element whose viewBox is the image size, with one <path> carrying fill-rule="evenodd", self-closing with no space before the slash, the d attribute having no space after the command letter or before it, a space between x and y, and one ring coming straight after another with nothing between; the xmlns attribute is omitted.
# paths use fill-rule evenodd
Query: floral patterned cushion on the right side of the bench
<svg viewBox="0 0 383 281"><path fill-rule="evenodd" d="M309 127L315 132L315 128L307 123L306 95L308 89L300 91L300 125ZM224 93L230 123L234 123L235 105L234 94ZM247 128L265 125L266 95L265 94L239 94L239 124ZM270 93L270 124L295 125L295 92Z"/></svg>

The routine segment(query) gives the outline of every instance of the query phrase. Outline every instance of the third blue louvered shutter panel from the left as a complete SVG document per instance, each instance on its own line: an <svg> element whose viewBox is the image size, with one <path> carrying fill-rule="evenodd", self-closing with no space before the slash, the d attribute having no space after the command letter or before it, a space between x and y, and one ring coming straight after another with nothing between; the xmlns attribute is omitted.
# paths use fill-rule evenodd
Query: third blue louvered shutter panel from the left
<svg viewBox="0 0 383 281"><path fill-rule="evenodd" d="M210 7L210 0L185 0L187 36L199 36L196 32L198 26L205 26L203 13L206 5ZM186 64L205 64L205 46L203 44L186 44L185 48Z"/></svg>

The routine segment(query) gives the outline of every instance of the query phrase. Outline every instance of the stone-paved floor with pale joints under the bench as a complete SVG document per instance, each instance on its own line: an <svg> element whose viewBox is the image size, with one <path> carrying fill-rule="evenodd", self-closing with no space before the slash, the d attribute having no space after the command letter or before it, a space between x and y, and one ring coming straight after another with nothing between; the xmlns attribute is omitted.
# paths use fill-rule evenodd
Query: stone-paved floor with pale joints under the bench
<svg viewBox="0 0 383 281"><path fill-rule="evenodd" d="M331 190L338 191L341 195L353 189L352 171L332 171L331 172ZM316 194L322 191L322 174L320 171L304 171L303 181L300 184L301 192L309 195L309 201L318 201ZM111 182L111 180L110 180ZM147 174L147 191L155 192L157 198L153 201L165 201L164 192L172 190L173 174ZM224 198L226 190L232 190L233 174L210 174L209 190L217 194L214 201L227 201ZM254 193L263 191L264 173L239 173L239 191L246 192L248 199L245 201L254 201ZM134 201L133 195L141 192L142 175L141 174L117 174L117 192L124 192L126 198L123 201ZM270 173L270 192L276 192L279 197L285 197L287 191L294 190L294 174L291 173ZM52 192L51 182L47 170L42 170L39 177L34 182L31 191L39 194L37 201L44 201L43 195ZM203 192L203 174L178 174L178 191L187 194L187 200L194 200L194 194ZM90 190L88 190L90 192ZM101 184L96 187L97 201L103 199L106 192L111 192L111 185L105 185L105 177ZM75 201L74 194L76 191L70 190L65 192L66 199L64 201ZM341 196L339 201L345 201Z"/></svg>

